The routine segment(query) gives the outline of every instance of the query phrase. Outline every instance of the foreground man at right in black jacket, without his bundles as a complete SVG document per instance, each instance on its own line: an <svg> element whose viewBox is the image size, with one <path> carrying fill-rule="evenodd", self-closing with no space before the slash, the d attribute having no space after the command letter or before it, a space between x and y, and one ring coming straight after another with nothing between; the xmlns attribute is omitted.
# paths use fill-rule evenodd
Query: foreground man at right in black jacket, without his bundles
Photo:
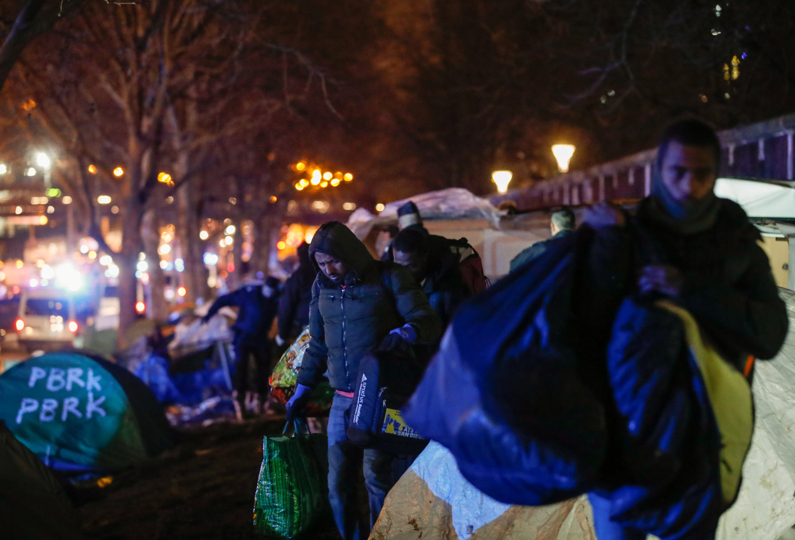
<svg viewBox="0 0 795 540"><path fill-rule="evenodd" d="M632 218L619 207L592 206L584 218L597 231L590 277L613 295L640 291L673 299L696 318L723 359L750 378L754 358L778 353L789 321L758 230L737 203L713 192L719 157L718 137L704 122L684 120L665 129L652 194L634 218L648 233L646 241L634 245L626 226ZM599 540L646 538L611 521L609 493L589 499Z"/></svg>

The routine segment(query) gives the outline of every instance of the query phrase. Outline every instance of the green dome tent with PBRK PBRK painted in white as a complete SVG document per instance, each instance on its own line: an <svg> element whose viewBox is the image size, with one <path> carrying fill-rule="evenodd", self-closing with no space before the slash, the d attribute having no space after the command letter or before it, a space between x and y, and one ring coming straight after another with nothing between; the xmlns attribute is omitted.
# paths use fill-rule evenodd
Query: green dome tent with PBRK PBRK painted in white
<svg viewBox="0 0 795 540"><path fill-rule="evenodd" d="M138 377L81 353L30 358L0 375L0 419L54 469L122 469L172 440Z"/></svg>

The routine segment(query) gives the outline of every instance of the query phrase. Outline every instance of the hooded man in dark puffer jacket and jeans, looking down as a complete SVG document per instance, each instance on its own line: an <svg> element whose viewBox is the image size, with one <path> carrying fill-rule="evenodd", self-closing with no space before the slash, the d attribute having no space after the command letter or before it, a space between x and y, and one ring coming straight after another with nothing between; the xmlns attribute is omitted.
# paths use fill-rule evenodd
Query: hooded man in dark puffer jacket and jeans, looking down
<svg viewBox="0 0 795 540"><path fill-rule="evenodd" d="M296 393L287 403L288 422L301 415L308 390L328 371L335 389L328 415L328 499L339 534L345 540L364 540L386 493L410 465L411 458L347 442L347 411L358 382L359 360L367 354L405 350L412 344L432 343L440 335L439 319L409 272L397 264L373 259L365 245L339 222L320 226L309 257L316 268L309 305L312 336L298 372ZM403 360L406 358L405 360ZM408 357L405 370L422 368ZM370 502L370 523L360 523L356 502L357 479L364 471Z"/></svg>

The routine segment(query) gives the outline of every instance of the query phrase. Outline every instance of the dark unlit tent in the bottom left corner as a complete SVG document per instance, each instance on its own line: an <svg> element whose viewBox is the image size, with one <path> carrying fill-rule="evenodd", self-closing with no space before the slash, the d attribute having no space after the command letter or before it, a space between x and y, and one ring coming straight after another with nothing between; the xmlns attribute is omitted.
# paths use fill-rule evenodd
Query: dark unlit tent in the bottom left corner
<svg viewBox="0 0 795 540"><path fill-rule="evenodd" d="M76 513L55 476L0 422L0 537L83 538Z"/></svg>

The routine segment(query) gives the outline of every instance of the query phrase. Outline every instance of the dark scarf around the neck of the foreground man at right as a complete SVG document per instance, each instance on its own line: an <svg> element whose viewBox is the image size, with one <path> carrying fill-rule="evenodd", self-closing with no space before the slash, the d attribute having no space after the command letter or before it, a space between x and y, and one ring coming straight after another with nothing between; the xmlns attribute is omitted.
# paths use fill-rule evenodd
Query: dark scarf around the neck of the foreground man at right
<svg viewBox="0 0 795 540"><path fill-rule="evenodd" d="M720 200L712 191L700 200L679 202L663 183L659 169L655 171L650 197L641 202L640 214L673 233L689 235L703 233L715 225Z"/></svg>

